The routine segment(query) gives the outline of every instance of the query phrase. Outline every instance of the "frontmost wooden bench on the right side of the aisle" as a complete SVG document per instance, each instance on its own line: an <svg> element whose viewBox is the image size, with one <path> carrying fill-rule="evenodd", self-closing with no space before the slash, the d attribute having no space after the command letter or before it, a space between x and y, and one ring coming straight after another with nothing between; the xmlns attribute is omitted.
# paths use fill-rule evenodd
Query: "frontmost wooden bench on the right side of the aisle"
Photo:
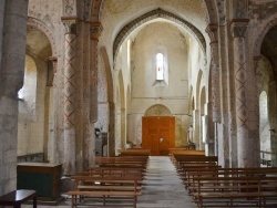
<svg viewBox="0 0 277 208"><path fill-rule="evenodd" d="M192 195L198 207L203 207L206 199L216 199L213 206L218 206L219 200L225 206L234 206L234 200L239 198L265 207L267 198L277 197L277 177L195 177L193 186L197 186ZM247 200L249 198L253 200Z"/></svg>

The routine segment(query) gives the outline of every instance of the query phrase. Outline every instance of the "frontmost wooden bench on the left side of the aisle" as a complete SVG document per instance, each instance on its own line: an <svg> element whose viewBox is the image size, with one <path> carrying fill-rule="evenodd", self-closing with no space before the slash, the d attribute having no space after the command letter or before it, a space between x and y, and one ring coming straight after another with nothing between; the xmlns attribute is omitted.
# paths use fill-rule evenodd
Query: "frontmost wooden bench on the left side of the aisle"
<svg viewBox="0 0 277 208"><path fill-rule="evenodd" d="M102 197L103 205L106 199L112 197L131 197L133 207L136 208L137 196L142 195L138 185L141 178L136 177L93 177L93 176L72 176L75 180L75 189L68 191L72 196L72 207L76 207L76 198Z"/></svg>

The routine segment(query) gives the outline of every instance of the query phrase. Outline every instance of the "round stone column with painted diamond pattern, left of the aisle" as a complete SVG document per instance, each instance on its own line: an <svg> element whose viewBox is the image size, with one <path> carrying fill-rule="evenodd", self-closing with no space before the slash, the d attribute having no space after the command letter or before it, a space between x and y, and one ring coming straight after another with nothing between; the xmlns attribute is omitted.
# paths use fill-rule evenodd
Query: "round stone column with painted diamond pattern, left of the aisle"
<svg viewBox="0 0 277 208"><path fill-rule="evenodd" d="M63 19L64 44L64 175L75 174L75 73L76 73L76 20Z"/></svg>

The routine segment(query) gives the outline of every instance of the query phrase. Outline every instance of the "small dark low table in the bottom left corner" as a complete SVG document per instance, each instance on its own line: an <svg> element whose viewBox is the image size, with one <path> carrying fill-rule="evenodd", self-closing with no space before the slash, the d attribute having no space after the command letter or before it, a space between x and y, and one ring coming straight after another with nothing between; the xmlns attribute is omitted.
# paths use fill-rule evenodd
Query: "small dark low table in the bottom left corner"
<svg viewBox="0 0 277 208"><path fill-rule="evenodd" d="M0 206L13 206L20 208L22 202L33 200L33 208L37 208L37 191L35 190L13 190L0 197Z"/></svg>

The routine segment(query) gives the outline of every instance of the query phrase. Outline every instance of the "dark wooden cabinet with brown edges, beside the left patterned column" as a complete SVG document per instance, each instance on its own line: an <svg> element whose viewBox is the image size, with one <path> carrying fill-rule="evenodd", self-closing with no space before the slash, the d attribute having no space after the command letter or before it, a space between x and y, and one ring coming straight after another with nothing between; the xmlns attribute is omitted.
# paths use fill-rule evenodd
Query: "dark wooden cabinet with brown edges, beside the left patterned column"
<svg viewBox="0 0 277 208"><path fill-rule="evenodd" d="M40 200L57 200L61 196L62 165L48 163L18 164L18 189L33 189Z"/></svg>

